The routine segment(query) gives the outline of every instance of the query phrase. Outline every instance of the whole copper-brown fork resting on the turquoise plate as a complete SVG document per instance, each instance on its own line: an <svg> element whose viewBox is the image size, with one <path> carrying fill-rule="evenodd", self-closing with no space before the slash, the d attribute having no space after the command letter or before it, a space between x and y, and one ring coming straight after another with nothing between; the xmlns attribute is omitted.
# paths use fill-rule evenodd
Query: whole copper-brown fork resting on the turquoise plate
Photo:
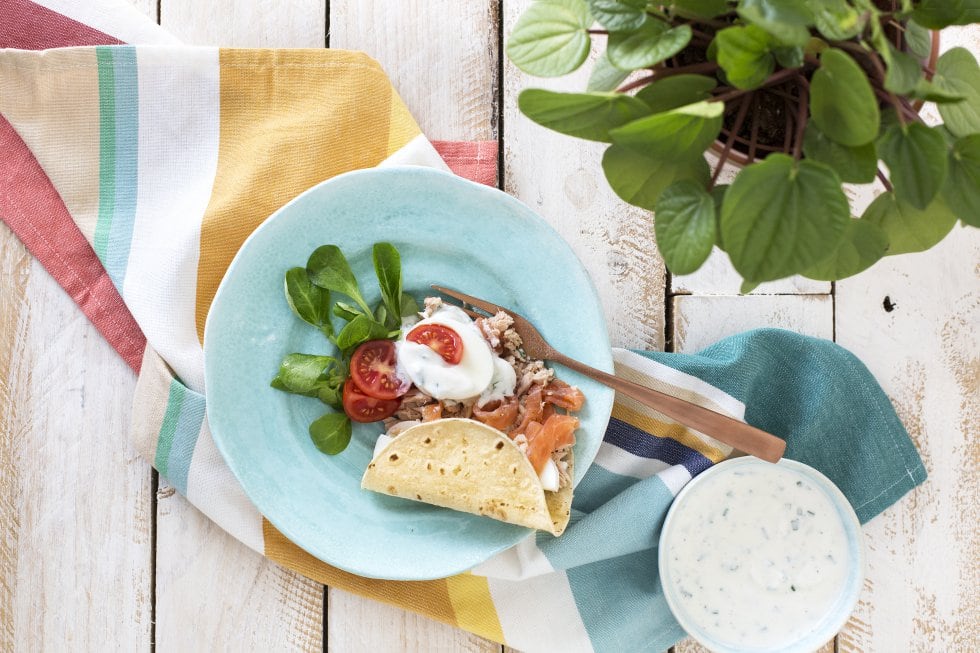
<svg viewBox="0 0 980 653"><path fill-rule="evenodd" d="M740 422L727 415L722 415L711 409L659 392L653 388L647 388L637 383L621 379L602 370L590 367L585 363L581 363L574 358L565 356L549 345L548 341L534 328L533 324L509 308L504 308L503 306L498 306L442 286L433 285L432 289L443 295L458 299L464 304L475 306L490 315L494 315L498 311L503 311L510 315L514 319L514 329L521 337L521 340L524 341L524 351L531 358L561 363L565 367L580 372L591 379L595 379L617 392L622 392L632 397L645 406L649 406L685 426L689 426L696 431L715 438L719 442L724 442L739 451L751 454L762 460L767 460L771 463L778 462L782 458L783 452L786 451L786 442L784 440L762 429L757 429L745 422ZM465 306L463 310L472 317L487 317L487 315L477 313Z"/></svg>

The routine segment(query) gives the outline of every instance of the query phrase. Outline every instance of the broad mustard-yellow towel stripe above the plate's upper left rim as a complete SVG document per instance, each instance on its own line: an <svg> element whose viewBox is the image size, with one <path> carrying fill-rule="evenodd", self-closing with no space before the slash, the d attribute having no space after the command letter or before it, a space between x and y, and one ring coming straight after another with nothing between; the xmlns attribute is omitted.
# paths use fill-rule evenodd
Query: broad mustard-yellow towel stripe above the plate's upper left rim
<svg viewBox="0 0 980 653"><path fill-rule="evenodd" d="M283 204L370 168L420 134L373 59L345 50L223 49L218 166L201 225L196 326L249 234Z"/></svg>

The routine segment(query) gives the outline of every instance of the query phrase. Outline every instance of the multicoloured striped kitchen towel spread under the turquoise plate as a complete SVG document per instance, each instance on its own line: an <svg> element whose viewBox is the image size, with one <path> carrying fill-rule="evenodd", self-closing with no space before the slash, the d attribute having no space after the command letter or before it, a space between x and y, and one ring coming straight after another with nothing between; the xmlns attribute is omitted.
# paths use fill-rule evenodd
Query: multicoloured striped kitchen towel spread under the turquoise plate
<svg viewBox="0 0 980 653"><path fill-rule="evenodd" d="M111 0L62 5L0 0L0 217L139 370L133 439L160 473L289 568L519 649L659 651L680 639L657 578L660 526L679 489L731 451L628 398L565 535L529 536L470 573L359 578L255 510L205 411L204 320L229 261L324 179L446 164L363 54L182 47ZM493 181L493 144L443 151ZM885 395L833 343L765 330L696 355L614 358L617 374L784 435L787 455L830 476L862 520L925 477Z"/></svg>

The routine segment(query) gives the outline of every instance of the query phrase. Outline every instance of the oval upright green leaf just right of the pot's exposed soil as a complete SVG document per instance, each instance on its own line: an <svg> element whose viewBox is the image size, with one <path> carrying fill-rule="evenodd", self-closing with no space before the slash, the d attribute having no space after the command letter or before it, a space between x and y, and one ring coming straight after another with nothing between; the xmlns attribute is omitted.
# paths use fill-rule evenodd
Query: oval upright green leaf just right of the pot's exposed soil
<svg viewBox="0 0 980 653"><path fill-rule="evenodd" d="M881 114L861 67L843 51L828 48L810 82L810 114L820 130L841 145L870 143Z"/></svg>

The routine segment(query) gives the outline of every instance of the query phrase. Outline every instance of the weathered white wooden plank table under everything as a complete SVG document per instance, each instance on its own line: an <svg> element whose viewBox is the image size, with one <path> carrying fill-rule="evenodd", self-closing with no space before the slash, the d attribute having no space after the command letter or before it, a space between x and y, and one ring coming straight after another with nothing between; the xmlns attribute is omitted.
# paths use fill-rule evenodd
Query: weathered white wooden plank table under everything
<svg viewBox="0 0 980 653"><path fill-rule="evenodd" d="M691 351L770 325L854 351L930 477L865 527L867 580L838 650L980 649L980 232L956 229L931 252L836 284L793 279L738 296L721 258L672 279L650 215L606 187L602 148L517 111L519 90L541 83L501 43L528 0L132 1L187 43L365 50L431 138L497 140L502 187L588 267L615 345ZM976 30L944 39L980 51ZM584 78L548 86L581 89ZM129 445L133 385L0 225L0 651L499 650L324 588L212 525Z"/></svg>

